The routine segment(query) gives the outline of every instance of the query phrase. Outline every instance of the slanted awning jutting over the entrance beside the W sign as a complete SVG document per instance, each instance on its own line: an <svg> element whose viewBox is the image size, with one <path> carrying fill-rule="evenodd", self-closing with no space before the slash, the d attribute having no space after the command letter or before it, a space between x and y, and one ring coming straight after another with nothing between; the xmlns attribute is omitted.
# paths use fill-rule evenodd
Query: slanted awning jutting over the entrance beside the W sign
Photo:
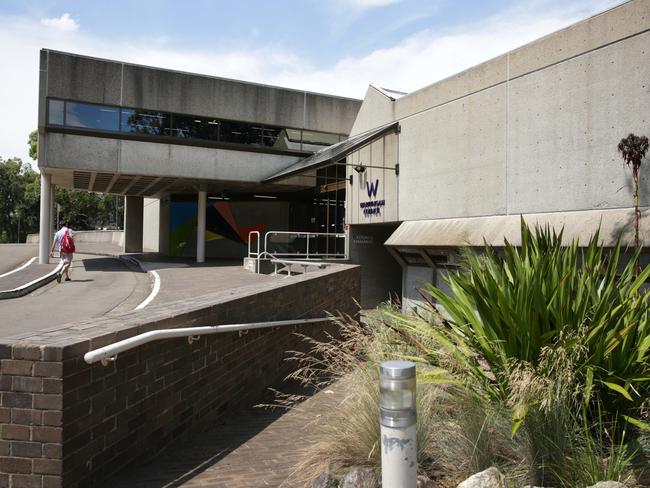
<svg viewBox="0 0 650 488"><path fill-rule="evenodd" d="M325 166L329 166L330 164L340 161L348 154L358 151L362 147L367 146L380 137L391 132L397 132L398 130L399 122L391 122L389 124L368 130L356 136L350 137L345 141L341 141L337 144L321 149L311 156L298 161L297 163L279 171L278 173L275 173L273 176L265 178L262 181L264 183L271 183L284 178L288 178L290 176L295 176L308 171L324 168Z"/></svg>

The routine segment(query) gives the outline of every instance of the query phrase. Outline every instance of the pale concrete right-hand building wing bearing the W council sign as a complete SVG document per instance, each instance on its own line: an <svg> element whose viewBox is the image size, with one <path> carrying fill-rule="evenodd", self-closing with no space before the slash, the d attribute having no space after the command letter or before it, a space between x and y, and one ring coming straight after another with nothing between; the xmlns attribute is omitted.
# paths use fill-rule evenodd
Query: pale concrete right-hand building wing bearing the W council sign
<svg viewBox="0 0 650 488"><path fill-rule="evenodd" d="M459 246L518 242L521 215L566 225L567 241L600 225L606 244L633 244L617 144L650 132L649 30L650 2L632 0L412 93L370 86L350 140L282 174L347 163L366 304L417 302ZM640 187L648 207L647 172Z"/></svg>

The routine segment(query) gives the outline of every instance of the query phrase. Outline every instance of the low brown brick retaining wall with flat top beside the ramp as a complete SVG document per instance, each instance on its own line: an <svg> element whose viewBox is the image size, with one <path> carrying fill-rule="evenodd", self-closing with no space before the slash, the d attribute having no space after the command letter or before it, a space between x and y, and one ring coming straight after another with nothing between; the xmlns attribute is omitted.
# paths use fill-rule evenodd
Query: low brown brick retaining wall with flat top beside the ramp
<svg viewBox="0 0 650 488"><path fill-rule="evenodd" d="M353 314L355 266L0 339L0 488L86 487L250 404L287 374L294 327L168 339L88 365L91 349L154 329ZM300 326L318 336L323 323Z"/></svg>

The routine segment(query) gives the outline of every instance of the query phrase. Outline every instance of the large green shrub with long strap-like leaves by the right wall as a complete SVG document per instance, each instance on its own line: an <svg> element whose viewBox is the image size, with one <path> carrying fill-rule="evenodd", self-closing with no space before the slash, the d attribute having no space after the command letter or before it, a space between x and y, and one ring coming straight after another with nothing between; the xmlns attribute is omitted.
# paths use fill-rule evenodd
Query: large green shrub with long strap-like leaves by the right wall
<svg viewBox="0 0 650 488"><path fill-rule="evenodd" d="M598 392L606 415L636 416L650 393L650 291L642 290L650 267L637 273L638 253L623 264L620 243L608 251L598 233L584 248L523 220L521 234L521 248L506 242L502 256L466 250L446 278L449 295L429 286L438 326L393 318L433 338L476 392L501 402L518 361L536 366L561 334L573 337L563 347L585 348L575 364L583 399Z"/></svg>

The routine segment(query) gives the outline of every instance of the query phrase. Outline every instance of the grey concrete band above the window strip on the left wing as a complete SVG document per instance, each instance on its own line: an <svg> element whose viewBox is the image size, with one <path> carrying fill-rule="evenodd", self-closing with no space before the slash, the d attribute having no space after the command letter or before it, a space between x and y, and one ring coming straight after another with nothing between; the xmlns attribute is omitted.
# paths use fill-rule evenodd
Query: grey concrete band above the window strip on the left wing
<svg viewBox="0 0 650 488"><path fill-rule="evenodd" d="M348 134L360 100L44 49L41 97ZM43 126L44 118L40 121Z"/></svg>

